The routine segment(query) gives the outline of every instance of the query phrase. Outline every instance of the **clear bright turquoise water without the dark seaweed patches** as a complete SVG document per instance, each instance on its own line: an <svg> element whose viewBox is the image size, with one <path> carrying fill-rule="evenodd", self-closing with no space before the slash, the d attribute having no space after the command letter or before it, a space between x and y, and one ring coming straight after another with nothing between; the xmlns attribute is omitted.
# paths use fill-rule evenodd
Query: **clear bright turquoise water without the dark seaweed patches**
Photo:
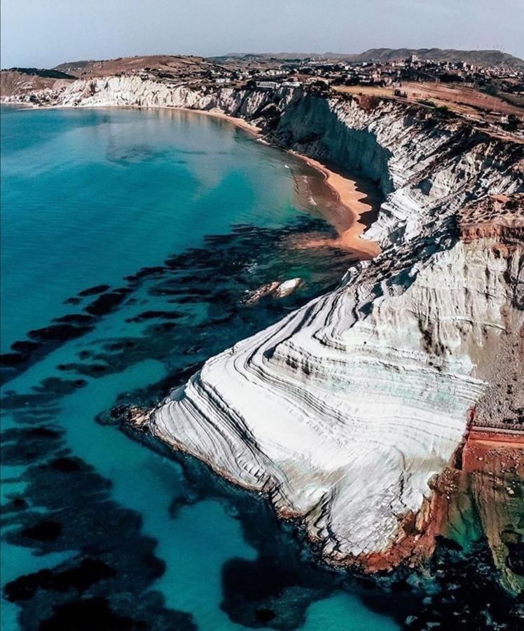
<svg viewBox="0 0 524 631"><path fill-rule="evenodd" d="M125 276L188 248L204 246L205 252L205 236L227 234L237 224L278 230L305 214L296 205L287 156L226 122L203 116L169 110L6 108L1 150L3 352L53 318L78 312L82 305L64 301L85 288L118 286ZM308 259L301 264L308 268ZM191 285L191 278L185 282ZM6 384L4 394L32 395L46 379L64 378L59 367L82 351L96 352L105 339L139 337L140 325L126 320L140 311L144 296L138 292L135 304L124 304L81 339L66 341L29 365ZM147 300L149 310L162 301ZM200 313L199 308L194 305L192 313ZM208 317L203 308L200 315ZM228 335L234 339L235 330ZM221 341L214 344L219 347ZM151 589L161 593L164 606L191 614L202 630L240 629L244 625L222 606L224 564L256 561L258 551L245 538L234 507L204 494L173 513L174 498L184 494L186 484L179 464L94 420L121 393L164 379L170 362L158 356L141 356L96 378L83 374L83 387L53 403L52 426L64 430L70 454L111 482L111 499L135 511L141 531L155 540L155 555L165 570ZM20 426L18 412L6 409L4 431ZM3 467L3 502L24 496L23 475L30 464ZM6 522L3 532L15 528ZM276 536L276 529L267 538ZM2 552L6 585L53 568L75 557L78 549L71 545L39 555L29 546L3 541ZM53 609L52 602L46 606ZM18 604L4 600L2 609L2 629L20 628ZM332 589L310 598L301 628L378 631L397 624L368 609L351 589Z"/></svg>

